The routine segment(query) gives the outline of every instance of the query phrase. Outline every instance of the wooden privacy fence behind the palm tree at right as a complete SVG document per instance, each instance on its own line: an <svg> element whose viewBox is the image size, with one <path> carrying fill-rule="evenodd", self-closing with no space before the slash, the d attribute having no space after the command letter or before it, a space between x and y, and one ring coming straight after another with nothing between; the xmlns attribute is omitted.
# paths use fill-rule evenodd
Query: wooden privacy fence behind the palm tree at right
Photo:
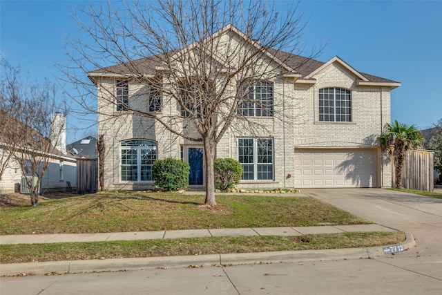
<svg viewBox="0 0 442 295"><path fill-rule="evenodd" d="M434 152L409 150L405 155L402 170L402 187L419 191L434 190ZM393 161L392 161L393 163ZM392 183L396 183L396 173L392 164Z"/></svg>

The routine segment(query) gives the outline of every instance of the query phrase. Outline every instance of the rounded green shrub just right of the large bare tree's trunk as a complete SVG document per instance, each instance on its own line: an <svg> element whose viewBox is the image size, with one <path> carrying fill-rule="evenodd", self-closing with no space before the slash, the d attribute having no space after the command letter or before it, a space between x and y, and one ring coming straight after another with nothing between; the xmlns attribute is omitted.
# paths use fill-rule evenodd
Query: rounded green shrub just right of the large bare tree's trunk
<svg viewBox="0 0 442 295"><path fill-rule="evenodd" d="M240 183L242 175L241 163L230 158L216 159L215 189L231 189Z"/></svg>

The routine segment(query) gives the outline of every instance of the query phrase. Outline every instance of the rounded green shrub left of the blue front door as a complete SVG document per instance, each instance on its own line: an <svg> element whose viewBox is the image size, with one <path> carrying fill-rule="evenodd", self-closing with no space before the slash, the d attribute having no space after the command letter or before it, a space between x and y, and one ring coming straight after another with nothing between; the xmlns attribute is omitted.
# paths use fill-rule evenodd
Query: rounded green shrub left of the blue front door
<svg viewBox="0 0 442 295"><path fill-rule="evenodd" d="M186 189L189 185L189 169L189 164L181 160L156 160L153 162L152 178L164 191Z"/></svg>

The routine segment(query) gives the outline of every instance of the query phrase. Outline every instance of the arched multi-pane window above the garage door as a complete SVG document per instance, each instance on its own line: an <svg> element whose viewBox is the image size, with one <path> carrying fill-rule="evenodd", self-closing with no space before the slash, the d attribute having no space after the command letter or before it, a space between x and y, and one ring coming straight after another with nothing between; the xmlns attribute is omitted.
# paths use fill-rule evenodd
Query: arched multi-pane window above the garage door
<svg viewBox="0 0 442 295"><path fill-rule="evenodd" d="M352 94L344 88L319 90L319 121L352 122Z"/></svg>

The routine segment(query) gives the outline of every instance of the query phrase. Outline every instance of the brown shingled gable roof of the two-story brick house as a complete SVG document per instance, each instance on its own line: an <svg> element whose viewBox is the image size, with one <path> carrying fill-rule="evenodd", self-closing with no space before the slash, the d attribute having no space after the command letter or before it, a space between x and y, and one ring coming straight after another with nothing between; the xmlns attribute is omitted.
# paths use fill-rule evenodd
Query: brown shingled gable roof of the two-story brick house
<svg viewBox="0 0 442 295"><path fill-rule="evenodd" d="M247 40L247 37L232 25L225 26L221 30L218 30L218 32L213 34L213 37L222 35L228 30L235 32L236 35L245 41L249 41L252 46L260 48L260 44L257 41ZM195 46L195 44L191 44L191 46ZM173 54L173 52L166 54L171 53ZM312 76L319 73L327 66L338 63L340 66L343 66L346 70L348 70L349 73L352 73L354 77L356 77L358 86L386 86L390 87L391 89L401 86L401 83L399 82L359 72L358 70L352 68L352 66L349 66L349 64L343 61L343 59L340 59L338 56L335 56L324 63L322 61L302 57L300 55L294 55L292 53L286 53L282 50L276 50L273 48L266 48L265 55L269 57L269 59L280 64L285 70L283 75L285 77L293 77L296 84L315 84L316 79L314 79ZM95 77L155 77L162 58L162 55L154 55L151 57L144 57L142 59L135 59L133 61L117 64L115 66L93 70L88 72L88 77L92 80L95 79ZM134 75L134 73L136 74Z"/></svg>

